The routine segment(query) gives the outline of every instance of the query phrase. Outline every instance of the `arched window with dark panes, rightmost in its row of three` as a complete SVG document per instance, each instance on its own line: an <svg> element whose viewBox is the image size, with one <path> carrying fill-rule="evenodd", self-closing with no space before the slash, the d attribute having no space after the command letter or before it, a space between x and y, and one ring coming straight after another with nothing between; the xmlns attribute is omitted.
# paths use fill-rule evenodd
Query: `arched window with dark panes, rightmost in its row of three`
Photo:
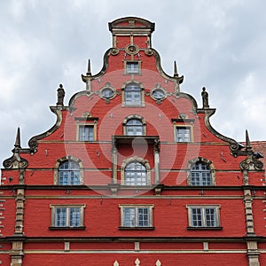
<svg viewBox="0 0 266 266"><path fill-rule="evenodd" d="M191 185L213 185L211 170L206 163L197 161L192 165Z"/></svg>

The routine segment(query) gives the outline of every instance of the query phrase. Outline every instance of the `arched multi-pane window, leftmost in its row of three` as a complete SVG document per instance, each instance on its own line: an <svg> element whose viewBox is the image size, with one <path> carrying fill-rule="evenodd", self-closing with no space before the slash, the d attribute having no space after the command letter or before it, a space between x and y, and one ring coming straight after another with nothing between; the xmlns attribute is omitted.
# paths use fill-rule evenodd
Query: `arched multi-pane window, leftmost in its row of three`
<svg viewBox="0 0 266 266"><path fill-rule="evenodd" d="M66 160L59 165L59 183L63 185L81 184L80 166L72 161Z"/></svg>

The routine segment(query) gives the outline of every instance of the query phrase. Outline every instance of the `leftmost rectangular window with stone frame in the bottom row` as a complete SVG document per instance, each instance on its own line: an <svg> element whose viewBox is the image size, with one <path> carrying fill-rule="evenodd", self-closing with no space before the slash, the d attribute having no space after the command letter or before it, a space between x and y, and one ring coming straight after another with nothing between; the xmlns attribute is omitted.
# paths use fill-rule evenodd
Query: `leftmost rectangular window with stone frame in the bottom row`
<svg viewBox="0 0 266 266"><path fill-rule="evenodd" d="M84 206L51 205L52 227L82 227Z"/></svg>

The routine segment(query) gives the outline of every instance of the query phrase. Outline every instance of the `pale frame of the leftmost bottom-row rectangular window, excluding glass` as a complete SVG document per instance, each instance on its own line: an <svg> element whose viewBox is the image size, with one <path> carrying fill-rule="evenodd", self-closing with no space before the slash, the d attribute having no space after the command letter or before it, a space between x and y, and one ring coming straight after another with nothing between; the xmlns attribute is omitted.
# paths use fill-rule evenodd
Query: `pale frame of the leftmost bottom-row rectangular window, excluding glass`
<svg viewBox="0 0 266 266"><path fill-rule="evenodd" d="M84 207L85 205L65 205L65 204L51 204L51 227L54 228L81 228L83 227L83 223L84 223ZM66 223L62 223L62 225L60 225L59 223L57 223L57 210L59 209L65 209L65 220ZM71 211L77 209L79 210L79 224L78 225L73 225L71 224Z"/></svg>

